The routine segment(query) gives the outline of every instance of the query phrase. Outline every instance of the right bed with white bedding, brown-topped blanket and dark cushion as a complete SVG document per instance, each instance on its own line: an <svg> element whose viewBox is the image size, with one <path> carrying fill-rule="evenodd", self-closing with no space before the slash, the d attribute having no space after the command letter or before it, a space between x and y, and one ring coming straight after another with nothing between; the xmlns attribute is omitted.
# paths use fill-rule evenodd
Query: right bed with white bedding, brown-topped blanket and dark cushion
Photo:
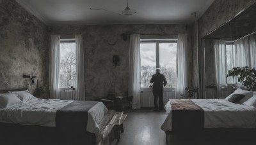
<svg viewBox="0 0 256 145"><path fill-rule="evenodd" d="M226 99L170 99L165 109L161 129L166 142L170 134L256 131L255 92L237 89Z"/></svg>

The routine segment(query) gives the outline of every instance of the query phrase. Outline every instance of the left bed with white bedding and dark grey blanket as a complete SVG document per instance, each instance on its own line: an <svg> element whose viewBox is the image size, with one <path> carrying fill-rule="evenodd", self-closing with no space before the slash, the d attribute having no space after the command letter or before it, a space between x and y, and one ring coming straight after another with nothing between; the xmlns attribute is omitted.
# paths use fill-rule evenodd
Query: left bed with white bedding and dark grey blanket
<svg viewBox="0 0 256 145"><path fill-rule="evenodd" d="M113 114L102 102L38 99L24 89L2 91L0 140L4 144L104 144L110 132L104 129Z"/></svg>

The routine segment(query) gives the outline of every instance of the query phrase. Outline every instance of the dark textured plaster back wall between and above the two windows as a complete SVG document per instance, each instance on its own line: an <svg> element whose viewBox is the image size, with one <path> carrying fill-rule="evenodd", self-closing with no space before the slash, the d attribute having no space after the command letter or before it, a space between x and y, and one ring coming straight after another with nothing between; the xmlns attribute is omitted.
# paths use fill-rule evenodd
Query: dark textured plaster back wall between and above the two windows
<svg viewBox="0 0 256 145"><path fill-rule="evenodd" d="M187 25L81 25L51 26L49 34L83 34L84 42L84 82L86 97L93 99L106 97L108 93L127 95L129 76L129 39L122 39L123 33L129 34L168 34L161 38L177 38L178 33L189 33ZM117 36L114 46L107 39ZM152 38L152 36L141 36ZM154 36L153 38L157 38ZM191 37L188 39L191 50ZM114 67L113 55L120 57L120 66ZM191 60L191 57L189 58ZM192 65L190 65L192 69Z"/></svg>

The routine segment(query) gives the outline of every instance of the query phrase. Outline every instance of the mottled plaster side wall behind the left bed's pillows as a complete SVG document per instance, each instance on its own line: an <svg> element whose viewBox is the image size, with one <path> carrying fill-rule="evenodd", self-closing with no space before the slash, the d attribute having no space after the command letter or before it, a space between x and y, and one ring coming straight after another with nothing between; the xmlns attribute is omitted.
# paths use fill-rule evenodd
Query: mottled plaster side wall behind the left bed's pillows
<svg viewBox="0 0 256 145"><path fill-rule="evenodd" d="M47 81L47 26L14 0L0 0L0 90L32 85L23 74L36 76L39 85Z"/></svg>

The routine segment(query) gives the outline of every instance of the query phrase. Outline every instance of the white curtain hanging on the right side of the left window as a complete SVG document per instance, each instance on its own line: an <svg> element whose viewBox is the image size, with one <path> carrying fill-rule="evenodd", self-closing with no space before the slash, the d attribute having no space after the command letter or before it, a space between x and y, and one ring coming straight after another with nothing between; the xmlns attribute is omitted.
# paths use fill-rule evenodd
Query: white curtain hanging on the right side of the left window
<svg viewBox="0 0 256 145"><path fill-rule="evenodd" d="M76 35L76 100L85 100L83 37Z"/></svg>

